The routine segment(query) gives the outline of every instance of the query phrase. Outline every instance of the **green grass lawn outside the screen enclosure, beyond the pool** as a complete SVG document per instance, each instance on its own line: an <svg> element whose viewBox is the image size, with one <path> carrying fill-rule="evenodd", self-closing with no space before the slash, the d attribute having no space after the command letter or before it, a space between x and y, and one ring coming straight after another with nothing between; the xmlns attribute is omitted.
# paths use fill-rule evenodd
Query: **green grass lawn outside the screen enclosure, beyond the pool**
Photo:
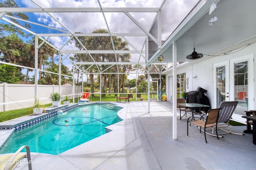
<svg viewBox="0 0 256 170"><path fill-rule="evenodd" d="M133 96L135 96L136 94L133 94ZM150 98L156 98L156 95L150 96ZM148 95L147 94L142 94L141 98L143 98L143 100L148 100ZM138 99L139 100L139 99ZM99 102L100 101L100 94L95 94L94 96L92 96L92 102ZM116 102L116 96L114 94L106 94L105 97L101 98L102 102ZM136 99L134 99L134 101L136 101ZM70 102L72 103L73 100L70 100ZM78 98L75 98L75 102L78 102ZM63 104L63 102L61 102L61 104ZM44 105L45 107L49 107L52 106L52 104L46 104ZM0 122L4 122L4 121L8 121L11 119L15 119L18 117L22 117L25 115L30 115L32 114L33 111L31 108L25 108L25 109L16 109L16 110L11 110L11 111L2 111L0 112Z"/></svg>

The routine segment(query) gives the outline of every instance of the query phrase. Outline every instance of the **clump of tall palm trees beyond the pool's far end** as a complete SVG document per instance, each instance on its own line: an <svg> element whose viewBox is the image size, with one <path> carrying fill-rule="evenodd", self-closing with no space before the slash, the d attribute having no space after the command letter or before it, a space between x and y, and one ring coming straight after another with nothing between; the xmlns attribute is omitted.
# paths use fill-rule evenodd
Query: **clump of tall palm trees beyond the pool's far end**
<svg viewBox="0 0 256 170"><path fill-rule="evenodd" d="M92 33L108 33L108 30L106 29L95 29ZM112 37L114 47L112 45L111 37L108 36L96 36L96 37L86 37L85 42L83 43L86 49L88 50L128 50L127 45L128 43L126 41L123 41L121 37ZM92 59L90 57L84 58L91 61L96 62L119 62L119 61L130 61L130 54L92 54ZM124 69L122 68L124 67ZM131 70L132 66L122 66L119 69L124 70L124 72L129 72ZM90 72L94 72L96 69L100 69L101 71L105 70L107 66L105 64L102 64L101 66L90 67ZM109 68L110 72L118 72L118 67L113 66L112 68ZM114 74L114 78L112 78L112 75L109 74L107 78L107 74L101 74L101 92L105 93L104 89L107 88L107 80L109 84L109 90L111 90L111 84L112 82L114 87L114 92L117 92L117 83L118 83L118 74ZM122 84L124 84L125 78L122 80ZM92 89L92 81L93 81L93 74L90 74L90 81L91 81L91 91ZM102 96L105 96L105 94L102 94Z"/></svg>

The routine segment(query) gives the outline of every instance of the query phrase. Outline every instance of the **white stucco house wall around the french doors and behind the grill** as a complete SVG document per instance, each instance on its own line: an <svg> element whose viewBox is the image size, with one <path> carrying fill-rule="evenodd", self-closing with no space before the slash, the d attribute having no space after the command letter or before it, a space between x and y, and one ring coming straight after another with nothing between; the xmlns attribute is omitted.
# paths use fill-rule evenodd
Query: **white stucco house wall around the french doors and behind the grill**
<svg viewBox="0 0 256 170"><path fill-rule="evenodd" d="M224 61L230 61L236 58L242 58L247 55L253 55L254 59L256 56L256 43L249 45L248 47L243 47L241 49L237 49L236 51L230 51L230 55L223 55L223 56L206 56L202 59L197 59L196 61L191 61L190 63L184 64L182 66L177 67L177 74L186 73L186 78L188 78L188 88L186 88L186 92L194 91L198 88L198 86L208 90L206 96L208 96L211 106L214 104L214 73L213 73L213 66L214 64L218 64ZM255 62L253 65L253 77L249 77L250 79L256 80L256 64ZM166 74L166 81L169 81L169 77L172 76L172 70L168 72L164 72ZM169 99L172 99L172 94L169 94L169 90L167 88L172 88L172 82L167 82L170 84L166 86L167 96ZM256 95L256 83L253 82L253 96ZM250 109L255 109L255 100L253 102L253 106L250 106Z"/></svg>

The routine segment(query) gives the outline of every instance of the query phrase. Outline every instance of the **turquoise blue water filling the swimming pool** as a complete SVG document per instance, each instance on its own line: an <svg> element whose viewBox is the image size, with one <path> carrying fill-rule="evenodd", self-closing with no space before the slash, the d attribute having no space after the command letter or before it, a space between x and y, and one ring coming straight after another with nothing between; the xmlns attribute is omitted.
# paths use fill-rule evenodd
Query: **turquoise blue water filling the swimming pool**
<svg viewBox="0 0 256 170"><path fill-rule="evenodd" d="M0 154L13 153L22 145L28 145L31 152L57 155L104 135L106 126L120 121L117 112L121 108L109 109L103 105L79 106L42 123L15 131Z"/></svg>

